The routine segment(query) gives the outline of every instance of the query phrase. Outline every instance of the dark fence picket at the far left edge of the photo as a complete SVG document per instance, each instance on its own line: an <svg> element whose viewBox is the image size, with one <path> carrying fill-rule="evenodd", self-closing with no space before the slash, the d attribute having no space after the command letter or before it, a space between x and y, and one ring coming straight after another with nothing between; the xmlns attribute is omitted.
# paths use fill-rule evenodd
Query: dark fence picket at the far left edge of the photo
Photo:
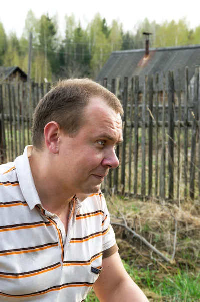
<svg viewBox="0 0 200 302"><path fill-rule="evenodd" d="M5 127L4 127L4 106L3 106L3 93L2 85L0 84L0 114L1 114L1 123L0 123L0 161L1 164L4 164L6 161L6 139L5 139Z"/></svg>

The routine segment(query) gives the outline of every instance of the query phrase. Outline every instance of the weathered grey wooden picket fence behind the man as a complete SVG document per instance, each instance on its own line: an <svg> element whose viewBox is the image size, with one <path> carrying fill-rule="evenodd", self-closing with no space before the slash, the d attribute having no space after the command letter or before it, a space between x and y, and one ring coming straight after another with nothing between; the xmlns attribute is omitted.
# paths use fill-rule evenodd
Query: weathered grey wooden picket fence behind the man
<svg viewBox="0 0 200 302"><path fill-rule="evenodd" d="M116 147L120 165L110 170L102 190L141 198L198 198L200 193L199 67L190 94L188 68L185 87L179 77L175 91L173 72L159 83L159 74L146 75L142 91L139 77L112 79L111 91L123 104L123 136ZM167 80L167 81L166 81ZM123 91L119 89L122 86ZM166 85L166 83L168 83ZM163 90L160 92L160 87ZM107 79L103 81L107 87ZM31 144L34 108L49 84L0 85L1 162L13 161Z"/></svg>

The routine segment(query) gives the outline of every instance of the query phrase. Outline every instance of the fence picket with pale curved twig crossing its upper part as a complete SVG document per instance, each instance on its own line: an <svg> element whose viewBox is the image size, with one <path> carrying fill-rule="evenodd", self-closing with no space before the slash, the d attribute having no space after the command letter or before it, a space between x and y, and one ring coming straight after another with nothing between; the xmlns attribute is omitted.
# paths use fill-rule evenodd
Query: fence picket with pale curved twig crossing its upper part
<svg viewBox="0 0 200 302"><path fill-rule="evenodd" d="M148 139L149 139L149 149L148 149L148 195L152 196L152 186L153 186L153 76L149 77L149 85L148 85L148 94L149 94L149 131L148 131Z"/></svg>

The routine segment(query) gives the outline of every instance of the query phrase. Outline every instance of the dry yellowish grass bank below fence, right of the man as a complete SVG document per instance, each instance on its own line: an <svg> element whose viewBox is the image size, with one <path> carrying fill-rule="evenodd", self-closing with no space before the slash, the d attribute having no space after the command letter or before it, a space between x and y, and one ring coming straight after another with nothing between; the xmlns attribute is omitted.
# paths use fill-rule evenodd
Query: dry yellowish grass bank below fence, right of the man
<svg viewBox="0 0 200 302"><path fill-rule="evenodd" d="M187 265L192 270L200 266L200 203L185 202L181 208L175 204L161 205L156 201L138 201L119 197L107 198L111 222L123 224L124 215L128 226L145 237L167 257L171 257L174 245L175 220L177 221L176 266ZM132 234L114 226L122 259L137 267L157 266L162 260ZM157 259L157 261L155 260ZM152 261L153 260L153 261ZM152 264L153 263L153 264Z"/></svg>

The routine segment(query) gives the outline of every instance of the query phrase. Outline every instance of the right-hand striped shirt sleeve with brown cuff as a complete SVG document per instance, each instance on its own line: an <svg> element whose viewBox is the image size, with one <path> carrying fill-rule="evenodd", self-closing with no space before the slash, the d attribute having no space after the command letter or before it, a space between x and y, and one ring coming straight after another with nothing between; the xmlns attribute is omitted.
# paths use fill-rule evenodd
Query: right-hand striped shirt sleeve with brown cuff
<svg viewBox="0 0 200 302"><path fill-rule="evenodd" d="M102 236L103 236L103 258L109 257L118 251L116 244L115 233L110 224L110 215L103 194L100 194L102 203Z"/></svg>

